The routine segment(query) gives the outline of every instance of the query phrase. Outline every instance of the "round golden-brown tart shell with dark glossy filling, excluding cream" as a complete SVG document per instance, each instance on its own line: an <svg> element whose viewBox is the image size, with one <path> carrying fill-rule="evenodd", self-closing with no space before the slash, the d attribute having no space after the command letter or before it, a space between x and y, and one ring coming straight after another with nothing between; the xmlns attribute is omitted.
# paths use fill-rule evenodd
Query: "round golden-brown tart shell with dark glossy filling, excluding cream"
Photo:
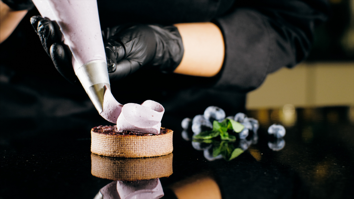
<svg viewBox="0 0 354 199"><path fill-rule="evenodd" d="M160 129L160 134L118 132L114 126L91 129L91 152L111 157L141 158L166 155L172 152L173 131Z"/></svg>

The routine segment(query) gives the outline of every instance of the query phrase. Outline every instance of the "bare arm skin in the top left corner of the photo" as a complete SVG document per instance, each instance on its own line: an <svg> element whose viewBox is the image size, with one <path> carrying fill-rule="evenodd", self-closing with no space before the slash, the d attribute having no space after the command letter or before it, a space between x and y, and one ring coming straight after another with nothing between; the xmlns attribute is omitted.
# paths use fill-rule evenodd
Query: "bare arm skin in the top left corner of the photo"
<svg viewBox="0 0 354 199"><path fill-rule="evenodd" d="M0 1L0 43L11 35L28 10L15 11Z"/></svg>

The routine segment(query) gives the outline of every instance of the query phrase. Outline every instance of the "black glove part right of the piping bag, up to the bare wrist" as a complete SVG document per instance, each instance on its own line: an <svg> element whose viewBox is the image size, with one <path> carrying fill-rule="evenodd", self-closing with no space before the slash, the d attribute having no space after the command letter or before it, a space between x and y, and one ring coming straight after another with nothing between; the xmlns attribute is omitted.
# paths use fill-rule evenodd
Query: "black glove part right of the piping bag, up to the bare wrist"
<svg viewBox="0 0 354 199"><path fill-rule="evenodd" d="M126 24L102 31L109 79L118 80L142 66L171 73L181 63L183 43L175 26Z"/></svg>

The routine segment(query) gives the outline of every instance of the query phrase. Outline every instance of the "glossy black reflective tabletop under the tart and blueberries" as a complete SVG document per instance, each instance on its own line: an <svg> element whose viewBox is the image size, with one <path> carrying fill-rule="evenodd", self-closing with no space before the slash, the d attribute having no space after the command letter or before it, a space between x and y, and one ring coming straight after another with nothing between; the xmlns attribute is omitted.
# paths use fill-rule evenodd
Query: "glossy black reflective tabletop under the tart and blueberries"
<svg viewBox="0 0 354 199"><path fill-rule="evenodd" d="M182 137L181 121L193 116L165 114L162 126L174 131L172 154L138 162L151 162L152 168L172 162L160 167L168 167L166 175L173 170L159 178L163 198L354 198L353 108L284 107L246 114L259 121L258 133L233 143L192 143L192 132ZM125 186L109 177L107 165L124 167L136 160L91 154L90 129L107 124L97 118L2 119L1 199L99 198L112 183ZM274 123L285 126L284 140L268 135ZM242 150L234 158L213 156L218 147ZM106 165L101 175L94 171L96 161ZM136 173L132 168L126 172Z"/></svg>

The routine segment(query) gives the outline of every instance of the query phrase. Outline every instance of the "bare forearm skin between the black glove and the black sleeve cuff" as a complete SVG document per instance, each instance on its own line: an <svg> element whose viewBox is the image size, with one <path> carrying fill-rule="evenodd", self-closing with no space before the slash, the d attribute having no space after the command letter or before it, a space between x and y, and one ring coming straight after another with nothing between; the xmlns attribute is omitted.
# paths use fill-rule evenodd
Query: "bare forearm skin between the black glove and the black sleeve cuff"
<svg viewBox="0 0 354 199"><path fill-rule="evenodd" d="M213 23L175 24L182 36L184 54L175 73L211 77L224 61L224 39Z"/></svg>

